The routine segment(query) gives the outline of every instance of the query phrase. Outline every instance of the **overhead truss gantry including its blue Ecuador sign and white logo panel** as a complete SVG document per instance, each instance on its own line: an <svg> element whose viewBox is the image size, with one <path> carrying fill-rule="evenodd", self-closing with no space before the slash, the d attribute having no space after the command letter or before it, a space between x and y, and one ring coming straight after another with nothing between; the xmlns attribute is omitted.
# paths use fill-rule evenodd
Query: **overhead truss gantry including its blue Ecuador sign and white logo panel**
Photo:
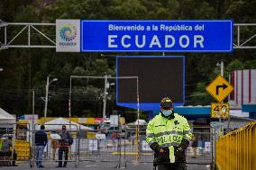
<svg viewBox="0 0 256 170"><path fill-rule="evenodd" d="M52 49L57 49L57 51L61 51L60 49L58 49L56 44L58 40L56 39L56 37L59 36L59 31L60 31L60 29L56 29L56 28L58 27L58 25L59 25L58 28L61 27L58 21L68 22L68 24L66 23L66 30L65 29L62 30L62 33L64 33L62 34L62 38L64 40L65 39L68 40L68 41L65 41L66 44L69 44L69 42L72 43L73 42L72 39L74 37L77 37L79 42L80 40L82 40L82 43L83 43L81 44L82 46L78 47L76 50L73 49L72 52L74 51L77 51L77 52L80 52L80 51L82 52L85 52L85 51L177 51L177 52L178 51L180 52L215 51L217 52L217 50L232 51L232 49L256 49L256 44L254 41L256 38L256 32L255 32L256 23L233 23L231 20L224 20L224 21L223 20L221 21L218 21L218 20L217 21L211 21L211 20L208 20L208 21L57 20L56 23L32 23L32 22L4 22L1 19L0 19L0 49L52 48ZM80 25L78 25L78 27L73 27L72 22L69 22L69 21L78 22ZM118 24L116 24L116 22ZM127 23L123 24L124 22L127 22ZM142 29L142 26L143 26L144 31L129 31L130 32L129 34L127 35L123 34L123 36L121 36L122 31L117 31L120 29L131 30L133 28L132 26L134 26L134 23L137 24L136 29L139 29L138 25L141 24L141 26L139 25L140 29ZM82 24L84 24L84 26L87 26L87 28L84 27ZM108 24L110 25L109 27L108 27ZM225 26L221 27L222 24L225 24ZM231 24L232 28L228 24L229 25ZM100 27L98 27L99 25ZM122 25L123 26L126 25L126 27L121 27ZM70 26L71 28L75 28L74 32L69 32ZM82 27L82 29L85 29L85 31L80 32L80 26ZM148 31L147 31L147 27L148 27ZM12 28L12 31L9 31L11 28ZM151 28L151 31L149 30L149 28ZM56 29L55 35L52 34L53 29ZM155 30L158 30L158 31L155 31ZM243 30L246 30L247 32L251 31L251 34L242 35ZM94 33L91 31L96 31L96 32ZM224 33L224 31L226 31L225 32L226 34ZM111 34L107 32L111 32ZM77 34L73 34L73 33L77 33ZM80 39L79 33L81 33L81 35L83 33L83 35L81 36L81 39ZM27 36L26 41L24 41L24 39L22 40L20 39L24 34ZM136 34L138 35L137 38L135 36ZM206 34L206 36L204 34ZM63 35L66 35L67 37ZM71 37L69 37L69 35L71 35ZM100 38L101 35L103 36L107 35L106 37L107 39L105 40L109 43L105 43L103 39L99 40L98 38ZM115 38L116 35L117 35L117 38ZM156 35L156 36L153 36L153 35ZM184 35L184 36L181 37L181 35ZM32 41L32 38L34 38L35 36L41 39L40 44ZM93 36L96 36L96 39L94 39ZM86 38L89 38L89 39L86 40ZM99 42L99 44L98 45L87 44L87 43L84 43L86 42L85 40L86 41L92 40L94 42ZM122 40L123 40L123 44L122 44ZM134 48L136 46L136 40L137 40L138 47ZM189 40L189 44L188 44L188 40ZM221 41L221 40L224 40L224 41ZM227 46L220 47L220 45L217 44L218 42L220 42L223 45L225 44ZM231 42L231 46L229 42ZM65 43L63 43L62 45L64 45ZM92 48L92 45L93 45L93 48ZM100 45L106 48L99 50L98 48L100 47ZM117 48L116 48L116 45L117 45ZM204 48L203 48L203 45L204 45ZM211 45L212 47L209 47L209 45ZM110 47L109 50L107 49L108 46ZM220 49L216 49L216 48L220 48ZM65 49L63 49L63 51L65 51ZM66 51L69 51L69 50L66 49Z"/></svg>

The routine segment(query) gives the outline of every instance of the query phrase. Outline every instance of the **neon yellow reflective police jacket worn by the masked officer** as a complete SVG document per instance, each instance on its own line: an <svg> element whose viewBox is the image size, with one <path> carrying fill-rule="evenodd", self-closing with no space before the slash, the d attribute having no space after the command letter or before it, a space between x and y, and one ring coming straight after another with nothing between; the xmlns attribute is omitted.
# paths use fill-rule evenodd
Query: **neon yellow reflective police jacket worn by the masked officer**
<svg viewBox="0 0 256 170"><path fill-rule="evenodd" d="M169 148L170 163L175 162L174 148L178 147L182 139L192 139L192 133L187 119L174 113L174 119L167 119L156 115L148 124L146 142L149 146L157 142L160 148Z"/></svg>

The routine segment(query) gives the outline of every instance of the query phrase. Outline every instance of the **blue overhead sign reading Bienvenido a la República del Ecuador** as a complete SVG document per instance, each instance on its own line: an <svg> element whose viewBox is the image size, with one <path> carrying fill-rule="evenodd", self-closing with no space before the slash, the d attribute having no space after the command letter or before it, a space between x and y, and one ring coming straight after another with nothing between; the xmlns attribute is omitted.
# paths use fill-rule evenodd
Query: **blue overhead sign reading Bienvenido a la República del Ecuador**
<svg viewBox="0 0 256 170"><path fill-rule="evenodd" d="M233 21L81 21L81 51L233 51Z"/></svg>

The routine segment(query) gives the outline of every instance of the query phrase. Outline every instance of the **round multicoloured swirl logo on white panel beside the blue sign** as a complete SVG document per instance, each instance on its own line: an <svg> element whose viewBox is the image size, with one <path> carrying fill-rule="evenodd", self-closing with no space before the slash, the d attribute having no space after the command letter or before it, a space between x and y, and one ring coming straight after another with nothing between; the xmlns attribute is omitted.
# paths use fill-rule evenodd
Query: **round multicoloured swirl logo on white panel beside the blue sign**
<svg viewBox="0 0 256 170"><path fill-rule="evenodd" d="M76 39L77 35L77 28L70 23L63 25L59 30L59 37L67 42Z"/></svg>

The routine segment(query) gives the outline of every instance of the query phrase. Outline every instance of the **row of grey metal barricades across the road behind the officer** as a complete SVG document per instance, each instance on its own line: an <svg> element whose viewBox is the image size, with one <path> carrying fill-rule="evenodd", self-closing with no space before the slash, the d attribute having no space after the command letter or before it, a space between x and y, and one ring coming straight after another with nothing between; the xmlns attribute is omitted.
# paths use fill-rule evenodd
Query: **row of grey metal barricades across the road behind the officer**
<svg viewBox="0 0 256 170"><path fill-rule="evenodd" d="M73 137L73 143L64 149L68 152L68 165L78 166L81 162L93 161L104 164L105 167L126 167L126 163L152 163L154 153L146 143L146 131L140 130L136 137L135 130L82 130L77 125L69 124L48 124L46 133L48 144L43 149L42 164L58 166L59 164L59 134L61 126L66 125L67 130ZM13 125L16 126L16 125ZM36 165L35 151L38 150L35 145L35 133L40 126L33 128L24 125L23 130L5 129L1 131L1 136L13 135L14 150L17 153L17 161L30 166ZM23 134L23 135L22 135ZM215 163L215 131L194 132L193 141L187 148L187 164L212 165ZM56 146L57 145L57 146ZM62 157L61 157L62 158ZM64 158L63 158L64 159ZM8 161L14 160L9 157ZM6 162L6 161L4 161ZM64 160L63 160L64 162ZM6 165L4 165L6 166Z"/></svg>

